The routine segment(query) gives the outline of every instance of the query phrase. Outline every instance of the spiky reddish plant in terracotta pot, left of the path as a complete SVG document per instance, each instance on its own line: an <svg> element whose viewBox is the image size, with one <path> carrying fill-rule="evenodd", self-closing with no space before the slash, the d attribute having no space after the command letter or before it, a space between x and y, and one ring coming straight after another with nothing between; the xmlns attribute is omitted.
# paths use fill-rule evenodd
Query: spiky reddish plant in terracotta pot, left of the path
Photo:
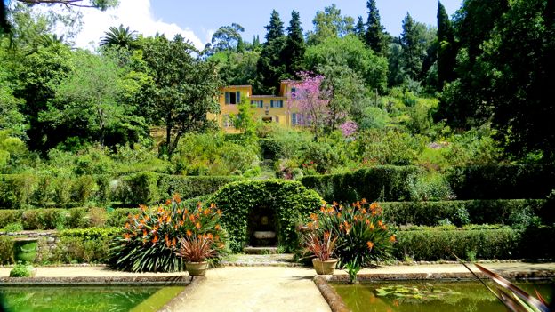
<svg viewBox="0 0 555 312"><path fill-rule="evenodd" d="M185 260L185 268L189 276L204 276L208 268L206 258L216 254L212 248L212 235L180 237L179 242L180 249L176 253Z"/></svg>

